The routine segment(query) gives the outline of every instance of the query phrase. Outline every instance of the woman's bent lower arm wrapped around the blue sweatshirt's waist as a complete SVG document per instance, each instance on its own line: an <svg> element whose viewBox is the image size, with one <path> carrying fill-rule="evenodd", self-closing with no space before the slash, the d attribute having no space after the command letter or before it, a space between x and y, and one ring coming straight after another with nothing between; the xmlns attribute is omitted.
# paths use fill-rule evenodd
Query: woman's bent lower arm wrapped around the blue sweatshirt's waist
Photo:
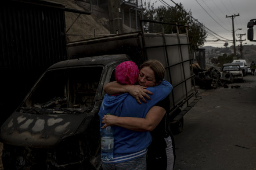
<svg viewBox="0 0 256 170"><path fill-rule="evenodd" d="M118 117L114 115L105 115L102 119L101 128L117 125L134 131L152 131L162 120L166 110L160 106L153 106L145 118Z"/></svg>

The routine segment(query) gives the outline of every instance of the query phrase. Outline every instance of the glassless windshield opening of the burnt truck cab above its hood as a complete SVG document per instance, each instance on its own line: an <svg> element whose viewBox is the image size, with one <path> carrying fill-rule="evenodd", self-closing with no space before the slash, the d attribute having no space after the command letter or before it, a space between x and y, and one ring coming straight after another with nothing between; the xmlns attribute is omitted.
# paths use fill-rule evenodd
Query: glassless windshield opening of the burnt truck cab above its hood
<svg viewBox="0 0 256 170"><path fill-rule="evenodd" d="M102 66L87 66L48 71L25 101L23 111L58 108L68 113L67 108L70 111L92 108L102 69Z"/></svg>

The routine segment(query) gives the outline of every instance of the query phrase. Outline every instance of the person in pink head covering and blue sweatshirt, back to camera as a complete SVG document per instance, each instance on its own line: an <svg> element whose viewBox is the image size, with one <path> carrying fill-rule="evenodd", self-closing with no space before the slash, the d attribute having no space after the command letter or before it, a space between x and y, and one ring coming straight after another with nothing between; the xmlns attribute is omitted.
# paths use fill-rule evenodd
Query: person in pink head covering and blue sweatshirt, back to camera
<svg viewBox="0 0 256 170"><path fill-rule="evenodd" d="M115 79L119 84L133 85L137 82L139 70L134 62L122 62L115 69ZM156 103L163 100L172 90L166 80L155 83L151 100L138 104L128 93L119 95L106 94L99 111L100 122L110 113L118 117L145 118ZM102 126L102 123L101 123ZM146 170L146 153L151 143L150 132L133 131L120 126L114 128L114 156L110 161L102 161L104 170Z"/></svg>

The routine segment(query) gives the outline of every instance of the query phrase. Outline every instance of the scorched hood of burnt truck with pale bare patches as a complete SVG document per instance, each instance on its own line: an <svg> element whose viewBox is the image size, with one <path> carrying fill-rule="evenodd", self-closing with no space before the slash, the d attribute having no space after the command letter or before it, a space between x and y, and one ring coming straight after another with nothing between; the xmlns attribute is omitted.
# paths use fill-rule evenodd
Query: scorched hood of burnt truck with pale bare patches
<svg viewBox="0 0 256 170"><path fill-rule="evenodd" d="M14 112L1 126L2 142L14 146L52 148L74 135L86 114L26 114Z"/></svg>

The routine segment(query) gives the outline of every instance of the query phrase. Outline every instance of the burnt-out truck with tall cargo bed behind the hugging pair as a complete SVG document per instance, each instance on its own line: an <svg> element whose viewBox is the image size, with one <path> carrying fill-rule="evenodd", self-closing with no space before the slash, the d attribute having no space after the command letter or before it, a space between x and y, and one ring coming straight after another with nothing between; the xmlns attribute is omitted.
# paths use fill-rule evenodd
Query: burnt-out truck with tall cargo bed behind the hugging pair
<svg viewBox="0 0 256 170"><path fill-rule="evenodd" d="M178 132L184 115L200 98L192 86L186 34L139 31L67 46L70 59L50 66L1 126L4 170L100 170L98 111L103 87L115 80L121 62L162 62L165 79L173 85L169 115Z"/></svg>

